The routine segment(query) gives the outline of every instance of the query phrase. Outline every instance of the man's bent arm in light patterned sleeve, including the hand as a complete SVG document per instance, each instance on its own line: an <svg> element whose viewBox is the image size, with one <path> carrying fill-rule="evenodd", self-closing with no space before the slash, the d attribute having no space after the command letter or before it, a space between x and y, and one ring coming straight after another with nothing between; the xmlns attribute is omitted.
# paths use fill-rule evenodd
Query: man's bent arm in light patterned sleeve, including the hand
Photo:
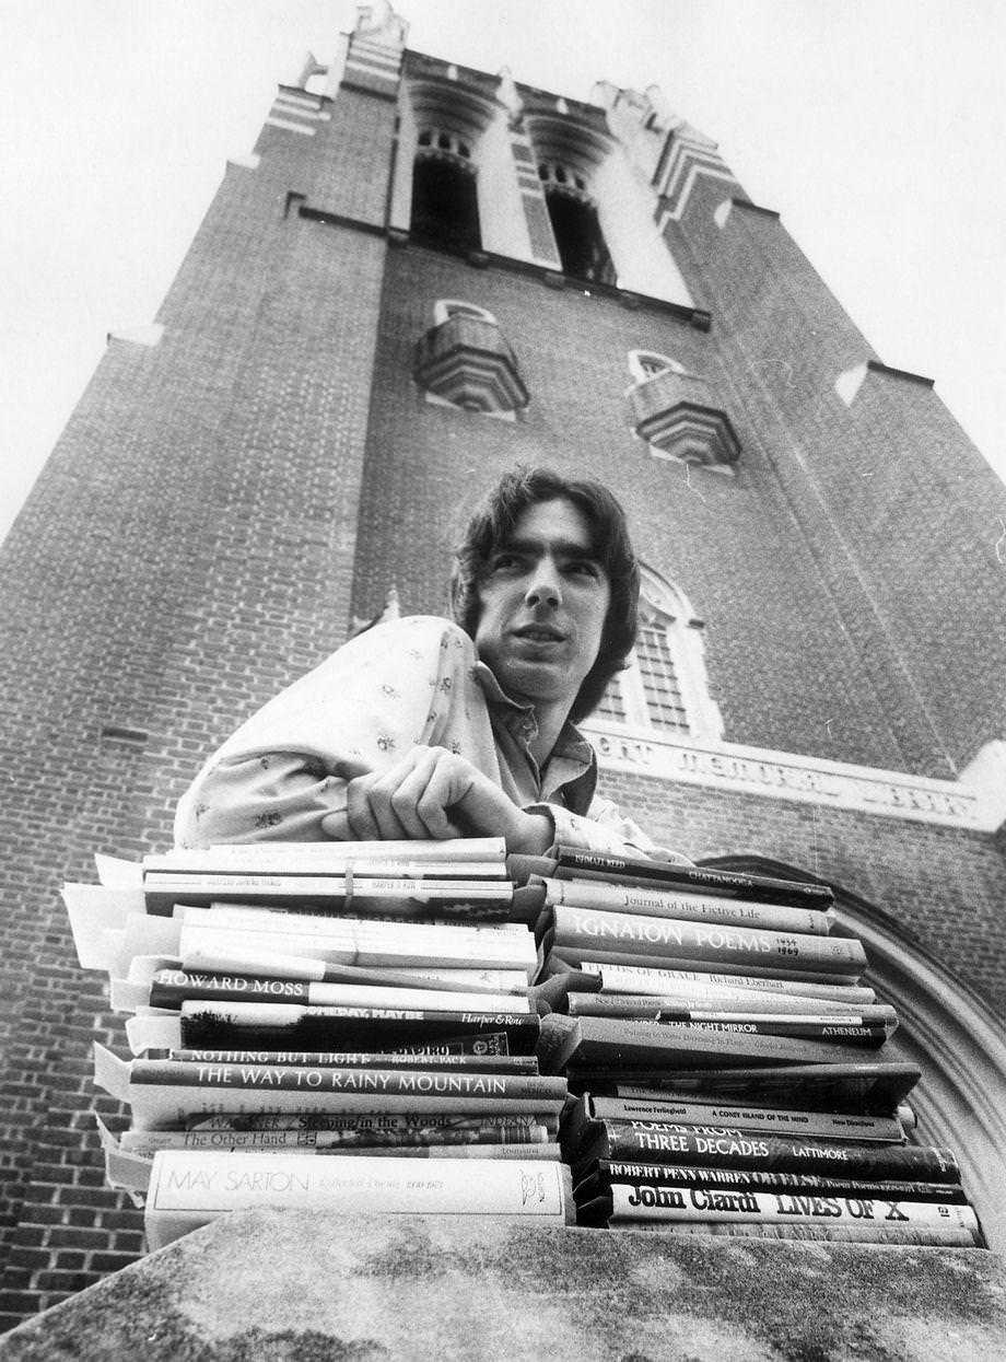
<svg viewBox="0 0 1006 1362"><path fill-rule="evenodd" d="M551 844L504 793L471 639L412 616L351 640L241 726L176 817L180 846L505 836Z"/></svg>

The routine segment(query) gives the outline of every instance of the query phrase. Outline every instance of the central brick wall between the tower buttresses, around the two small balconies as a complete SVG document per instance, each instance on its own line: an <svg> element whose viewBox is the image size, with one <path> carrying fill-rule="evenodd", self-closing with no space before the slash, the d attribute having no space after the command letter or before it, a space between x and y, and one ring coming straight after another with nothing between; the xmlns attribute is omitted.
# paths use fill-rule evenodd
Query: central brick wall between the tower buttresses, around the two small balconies
<svg viewBox="0 0 1006 1362"><path fill-rule="evenodd" d="M531 390L516 422L432 406L417 390L412 346L438 297L467 298L498 319ZM557 291L536 275L475 270L414 247L392 252L354 609L373 613L389 576L408 610L442 609L449 546L502 469L546 462L599 477L626 504L644 560L707 621L707 665L728 741L904 768L889 678L874 676L849 639L818 567L821 545L802 533L749 419L743 376L720 357L719 330L713 323L707 335L668 312L633 311L572 286ZM686 474L632 434L630 349L675 357L727 395L743 445L736 477Z"/></svg>

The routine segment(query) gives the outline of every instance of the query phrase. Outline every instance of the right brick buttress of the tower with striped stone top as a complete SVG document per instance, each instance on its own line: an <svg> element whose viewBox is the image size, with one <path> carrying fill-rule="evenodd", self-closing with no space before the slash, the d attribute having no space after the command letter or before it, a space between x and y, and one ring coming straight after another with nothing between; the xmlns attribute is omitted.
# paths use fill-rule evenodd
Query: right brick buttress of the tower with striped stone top
<svg viewBox="0 0 1006 1362"><path fill-rule="evenodd" d="M658 222L788 513L885 707L904 770L956 775L1001 737L995 543L1006 489L935 395L879 362L712 144L671 129ZM957 677L961 684L947 684Z"/></svg>

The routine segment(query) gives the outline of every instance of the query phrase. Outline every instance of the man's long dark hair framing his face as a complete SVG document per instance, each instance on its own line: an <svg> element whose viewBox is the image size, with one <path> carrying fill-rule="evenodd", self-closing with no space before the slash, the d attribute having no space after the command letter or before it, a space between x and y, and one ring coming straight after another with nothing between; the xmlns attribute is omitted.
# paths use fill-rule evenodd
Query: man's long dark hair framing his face
<svg viewBox="0 0 1006 1362"><path fill-rule="evenodd" d="M638 627L640 565L629 539L625 511L600 482L562 478L550 469L519 469L505 474L468 522L455 552L451 610L472 639L479 622L479 586L489 561L513 534L520 516L539 501L565 497L581 512L591 530L594 554L611 586L598 658L583 680L569 718L576 723L596 708L604 688L623 670Z"/></svg>

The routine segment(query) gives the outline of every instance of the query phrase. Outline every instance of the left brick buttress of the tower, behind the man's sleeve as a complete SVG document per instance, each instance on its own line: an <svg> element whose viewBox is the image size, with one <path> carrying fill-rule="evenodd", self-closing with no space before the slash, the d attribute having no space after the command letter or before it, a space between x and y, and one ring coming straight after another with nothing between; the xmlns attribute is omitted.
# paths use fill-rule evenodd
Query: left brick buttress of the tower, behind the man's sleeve
<svg viewBox="0 0 1006 1362"><path fill-rule="evenodd" d="M346 636L397 61L354 41L336 101L280 87L3 548L4 1323L140 1248L93 1135L88 1034L120 1023L59 887L169 844L206 753Z"/></svg>

